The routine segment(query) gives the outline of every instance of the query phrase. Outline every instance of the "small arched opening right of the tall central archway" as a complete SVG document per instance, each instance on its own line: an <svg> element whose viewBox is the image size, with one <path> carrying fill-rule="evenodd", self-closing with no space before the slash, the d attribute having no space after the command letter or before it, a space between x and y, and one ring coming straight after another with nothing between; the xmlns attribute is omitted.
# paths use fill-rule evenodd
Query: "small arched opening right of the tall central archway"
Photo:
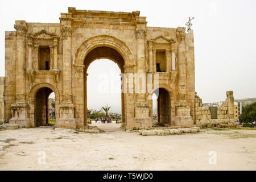
<svg viewBox="0 0 256 182"><path fill-rule="evenodd" d="M164 126L171 124L171 96L166 89L156 89L152 96L153 121Z"/></svg>

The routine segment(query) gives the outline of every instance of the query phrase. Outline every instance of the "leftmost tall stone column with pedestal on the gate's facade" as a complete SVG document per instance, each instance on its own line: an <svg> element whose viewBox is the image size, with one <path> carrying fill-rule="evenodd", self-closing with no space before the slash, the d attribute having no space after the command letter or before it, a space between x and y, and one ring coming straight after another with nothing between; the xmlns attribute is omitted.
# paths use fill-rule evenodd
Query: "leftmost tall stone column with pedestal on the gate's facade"
<svg viewBox="0 0 256 182"><path fill-rule="evenodd" d="M11 105L12 118L9 123L30 127L28 119L28 104L26 102L26 33L27 23L16 20L14 28L17 31L16 42L16 101Z"/></svg>

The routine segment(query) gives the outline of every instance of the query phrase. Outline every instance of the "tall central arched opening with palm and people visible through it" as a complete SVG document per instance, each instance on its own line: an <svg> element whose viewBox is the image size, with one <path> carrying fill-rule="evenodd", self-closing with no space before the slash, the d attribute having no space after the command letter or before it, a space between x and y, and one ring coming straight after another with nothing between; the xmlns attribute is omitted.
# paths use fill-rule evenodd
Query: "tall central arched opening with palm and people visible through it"
<svg viewBox="0 0 256 182"><path fill-rule="evenodd" d="M110 47L96 47L85 57L85 121L96 124L102 119L125 125L124 95L121 92L121 73L124 60L118 51ZM110 107L108 115L102 107ZM110 123L110 121L109 121Z"/></svg>

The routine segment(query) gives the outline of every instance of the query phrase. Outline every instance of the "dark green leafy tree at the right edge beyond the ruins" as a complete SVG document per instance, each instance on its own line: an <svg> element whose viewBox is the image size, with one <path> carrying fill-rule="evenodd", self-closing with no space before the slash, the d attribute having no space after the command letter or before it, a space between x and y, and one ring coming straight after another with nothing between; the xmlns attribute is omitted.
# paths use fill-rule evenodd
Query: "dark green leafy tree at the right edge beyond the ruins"
<svg viewBox="0 0 256 182"><path fill-rule="evenodd" d="M243 107L239 120L246 126L256 121L256 102Z"/></svg>

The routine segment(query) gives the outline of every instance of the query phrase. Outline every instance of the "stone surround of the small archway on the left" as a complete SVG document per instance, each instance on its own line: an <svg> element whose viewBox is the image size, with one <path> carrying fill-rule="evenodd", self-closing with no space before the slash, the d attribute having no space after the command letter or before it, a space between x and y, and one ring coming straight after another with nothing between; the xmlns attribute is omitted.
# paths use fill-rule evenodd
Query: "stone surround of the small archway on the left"
<svg viewBox="0 0 256 182"><path fill-rule="evenodd" d="M43 95L43 97L41 97L41 99L45 100L46 98L48 99L49 93L54 92L55 93L55 118L56 118L56 124L57 121L59 119L59 92L58 90L55 88L55 86L48 84L48 83L40 83L37 84L35 86L32 87L32 89L30 90L30 94L29 94L29 105L30 105L30 111L29 111L29 117L30 117L30 125L31 127L36 127L38 126L36 124L36 115L42 115L42 113L36 113L36 97L38 97L38 95L42 95L42 93L39 92L47 92L48 94ZM44 98L46 97L46 98ZM38 102L40 102L38 100ZM46 104L45 104L46 105ZM45 106L44 105L44 106ZM43 106L42 106L43 108ZM41 108L41 109L42 109ZM44 123L44 122L42 122Z"/></svg>

